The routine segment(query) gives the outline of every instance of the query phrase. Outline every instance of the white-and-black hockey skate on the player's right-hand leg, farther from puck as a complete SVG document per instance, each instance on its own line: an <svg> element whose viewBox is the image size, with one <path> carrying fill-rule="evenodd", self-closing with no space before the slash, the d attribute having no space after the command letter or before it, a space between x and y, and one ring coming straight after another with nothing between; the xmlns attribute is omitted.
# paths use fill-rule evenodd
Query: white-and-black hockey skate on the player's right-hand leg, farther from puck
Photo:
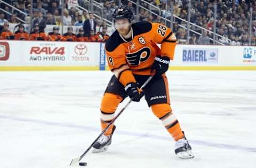
<svg viewBox="0 0 256 168"><path fill-rule="evenodd" d="M186 139L186 137L183 137L181 139L179 139L176 144L175 144L175 154L179 157L179 158L194 158L195 156L193 155L193 153L191 152L191 146L188 143L188 140Z"/></svg>

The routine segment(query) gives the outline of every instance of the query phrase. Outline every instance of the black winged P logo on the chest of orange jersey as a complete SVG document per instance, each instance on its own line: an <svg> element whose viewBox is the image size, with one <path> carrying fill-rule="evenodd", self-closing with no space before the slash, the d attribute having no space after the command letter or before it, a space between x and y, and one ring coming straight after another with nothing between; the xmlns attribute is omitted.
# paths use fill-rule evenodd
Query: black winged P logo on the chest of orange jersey
<svg viewBox="0 0 256 168"><path fill-rule="evenodd" d="M126 60L130 65L139 65L148 60L150 53L150 48L144 47L135 53L126 54Z"/></svg>

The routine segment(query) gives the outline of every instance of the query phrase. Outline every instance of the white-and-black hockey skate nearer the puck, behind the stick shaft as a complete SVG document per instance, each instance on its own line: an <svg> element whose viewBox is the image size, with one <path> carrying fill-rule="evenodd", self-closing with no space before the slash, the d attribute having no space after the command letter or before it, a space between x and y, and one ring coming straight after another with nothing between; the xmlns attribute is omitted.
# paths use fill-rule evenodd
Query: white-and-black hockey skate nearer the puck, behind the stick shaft
<svg viewBox="0 0 256 168"><path fill-rule="evenodd" d="M116 129L116 126L114 125L110 136L102 135L97 140L97 142L95 142L95 144L93 145L92 153L105 152L108 149L108 146L111 144L111 138L115 129Z"/></svg>

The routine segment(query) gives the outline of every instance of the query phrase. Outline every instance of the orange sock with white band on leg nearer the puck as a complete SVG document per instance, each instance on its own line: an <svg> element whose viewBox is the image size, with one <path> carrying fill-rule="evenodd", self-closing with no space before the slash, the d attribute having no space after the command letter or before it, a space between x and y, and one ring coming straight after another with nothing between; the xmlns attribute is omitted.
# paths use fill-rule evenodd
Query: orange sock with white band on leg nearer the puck
<svg viewBox="0 0 256 168"><path fill-rule="evenodd" d="M115 95L115 94L110 94L110 93L105 93L102 100L101 100L101 107L100 110L103 112L101 115L105 115L105 118L107 118L108 114L109 116L114 116L113 113L116 111L117 106L119 103L122 101L122 97ZM113 118L113 117L112 117ZM102 120L101 119L101 128L102 130L105 129L108 125L108 122L110 122L111 119L109 120ZM110 128L105 132L106 136L109 136L112 132L112 129L114 127L114 124L110 126Z"/></svg>

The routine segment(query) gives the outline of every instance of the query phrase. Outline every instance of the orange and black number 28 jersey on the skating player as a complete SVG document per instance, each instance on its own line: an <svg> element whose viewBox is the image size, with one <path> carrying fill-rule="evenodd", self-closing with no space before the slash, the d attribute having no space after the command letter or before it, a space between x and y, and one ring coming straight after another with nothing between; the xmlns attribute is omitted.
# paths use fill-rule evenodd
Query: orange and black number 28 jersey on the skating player
<svg viewBox="0 0 256 168"><path fill-rule="evenodd" d="M170 28L159 23L133 23L132 31L132 41L126 39L129 43L115 31L105 47L109 68L124 86L135 82L133 74L150 75L157 55L173 60L177 40ZM161 48L157 44L161 44Z"/></svg>

